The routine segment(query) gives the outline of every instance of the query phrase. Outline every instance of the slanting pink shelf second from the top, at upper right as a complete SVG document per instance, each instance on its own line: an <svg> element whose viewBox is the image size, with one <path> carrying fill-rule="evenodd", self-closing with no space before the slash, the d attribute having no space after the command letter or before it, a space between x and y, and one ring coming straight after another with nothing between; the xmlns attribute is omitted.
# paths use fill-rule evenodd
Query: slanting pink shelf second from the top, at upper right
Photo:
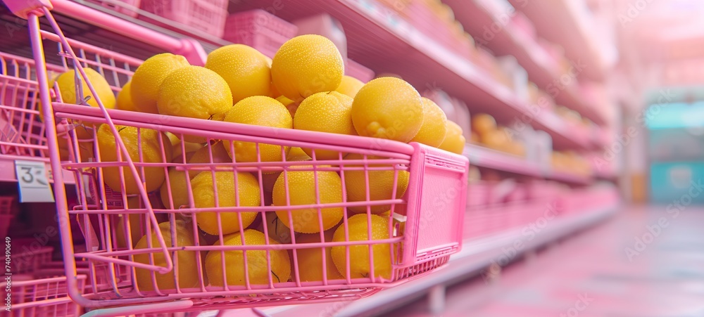
<svg viewBox="0 0 704 317"><path fill-rule="evenodd" d="M541 89L550 89L558 104L576 110L596 124L604 123L603 117L584 103L576 85L570 84L558 89L562 85L559 84L557 62L535 39L517 30L513 22L497 20L495 14L482 5L481 1L444 0L444 3L453 9L455 19L462 23L465 31L472 34L478 44L486 46L498 56L514 56L528 72L528 78ZM508 19L508 13L501 18ZM494 25L500 27L498 32L494 32Z"/></svg>

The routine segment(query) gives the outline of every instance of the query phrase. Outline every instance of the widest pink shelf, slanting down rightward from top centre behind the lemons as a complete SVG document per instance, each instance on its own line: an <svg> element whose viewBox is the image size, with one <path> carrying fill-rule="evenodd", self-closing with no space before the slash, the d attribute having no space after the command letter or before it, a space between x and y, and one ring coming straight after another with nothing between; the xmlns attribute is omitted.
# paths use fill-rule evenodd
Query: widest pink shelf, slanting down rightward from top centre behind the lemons
<svg viewBox="0 0 704 317"><path fill-rule="evenodd" d="M273 6L274 1L241 0L230 4L230 11L279 8ZM442 89L465 101L470 111L489 113L498 122L513 123L527 118L524 122L551 134L555 148L591 146L588 140L574 136L571 129L546 122L546 115L532 114L527 102L517 98L508 87L375 1L291 0L282 6L275 14L289 21L321 12L333 15L347 35L348 56L377 74L400 75L421 91Z"/></svg>

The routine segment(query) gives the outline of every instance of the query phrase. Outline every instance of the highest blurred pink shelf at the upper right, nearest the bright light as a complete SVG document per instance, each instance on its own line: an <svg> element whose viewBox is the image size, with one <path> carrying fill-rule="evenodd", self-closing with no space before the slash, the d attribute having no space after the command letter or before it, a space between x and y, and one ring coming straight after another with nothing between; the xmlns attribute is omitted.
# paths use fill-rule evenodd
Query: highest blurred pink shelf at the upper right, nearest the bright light
<svg viewBox="0 0 704 317"><path fill-rule="evenodd" d="M598 81L605 78L607 53L595 43L591 17L579 8L581 1L508 1L533 22L541 37L560 44L573 62L586 65L580 75Z"/></svg>

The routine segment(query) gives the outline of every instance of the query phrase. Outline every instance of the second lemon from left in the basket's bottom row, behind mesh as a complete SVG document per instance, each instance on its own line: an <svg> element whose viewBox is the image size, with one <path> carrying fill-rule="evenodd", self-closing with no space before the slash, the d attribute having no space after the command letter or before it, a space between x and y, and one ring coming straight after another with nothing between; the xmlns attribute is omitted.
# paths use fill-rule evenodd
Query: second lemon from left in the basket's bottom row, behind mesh
<svg viewBox="0 0 704 317"><path fill-rule="evenodd" d="M264 233L253 229L222 237L222 244L242 245L242 235L244 235L244 245L266 244ZM271 238L269 243L270 245L279 244ZM220 245L220 242L215 242L213 245ZM291 260L286 250L269 250L270 261L267 261L265 250L248 250L246 252L246 276L249 277L250 285L268 285L270 278L273 283L284 283L289 280ZM223 253L225 259L222 258ZM225 261L225 272L222 272L222 261ZM206 256L206 273L208 273L210 284L214 286L222 286L225 281L227 285L246 285L244 265L244 252L239 250L210 251Z"/></svg>

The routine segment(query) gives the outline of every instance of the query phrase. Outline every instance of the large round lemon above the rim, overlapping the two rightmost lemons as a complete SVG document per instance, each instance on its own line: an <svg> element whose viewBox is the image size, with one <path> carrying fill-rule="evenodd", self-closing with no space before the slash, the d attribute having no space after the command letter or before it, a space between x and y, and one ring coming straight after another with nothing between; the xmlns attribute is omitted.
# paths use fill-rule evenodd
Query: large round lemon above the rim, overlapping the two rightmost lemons
<svg viewBox="0 0 704 317"><path fill-rule="evenodd" d="M403 79L374 79L355 96L352 122L360 136L408 142L423 124L420 93Z"/></svg>

